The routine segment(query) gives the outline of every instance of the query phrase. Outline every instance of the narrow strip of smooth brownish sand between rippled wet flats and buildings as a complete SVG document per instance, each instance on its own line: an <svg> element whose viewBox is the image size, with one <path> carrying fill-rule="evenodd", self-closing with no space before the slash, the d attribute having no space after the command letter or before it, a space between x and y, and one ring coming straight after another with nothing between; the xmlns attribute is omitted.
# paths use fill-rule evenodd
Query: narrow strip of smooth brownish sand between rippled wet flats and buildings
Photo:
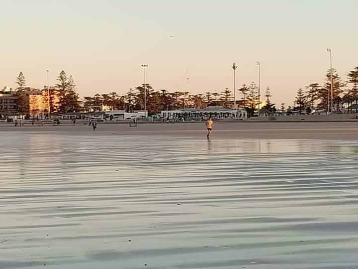
<svg viewBox="0 0 358 269"><path fill-rule="evenodd" d="M96 131L91 127L77 124L54 126L13 127L0 125L0 132L63 135L169 135L173 137L205 137L205 123L184 124L99 124ZM358 123L218 123L212 134L214 139L340 139L357 140Z"/></svg>

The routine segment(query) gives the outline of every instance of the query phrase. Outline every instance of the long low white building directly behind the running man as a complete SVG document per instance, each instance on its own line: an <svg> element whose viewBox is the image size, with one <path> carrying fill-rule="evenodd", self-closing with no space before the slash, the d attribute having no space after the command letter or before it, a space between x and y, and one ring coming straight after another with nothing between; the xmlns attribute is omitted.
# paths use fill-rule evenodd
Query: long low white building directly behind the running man
<svg viewBox="0 0 358 269"><path fill-rule="evenodd" d="M180 109L164 110L161 112L162 119L181 120L181 121L201 121L212 117L214 120L236 119L246 120L246 110L233 110L223 108L206 108L206 109Z"/></svg>

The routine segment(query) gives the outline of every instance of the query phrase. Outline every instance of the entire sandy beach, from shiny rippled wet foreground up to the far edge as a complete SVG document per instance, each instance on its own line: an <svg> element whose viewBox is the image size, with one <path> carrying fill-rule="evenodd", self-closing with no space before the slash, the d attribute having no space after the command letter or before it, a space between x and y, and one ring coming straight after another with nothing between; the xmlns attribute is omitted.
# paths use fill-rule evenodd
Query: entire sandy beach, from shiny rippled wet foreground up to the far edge
<svg viewBox="0 0 358 269"><path fill-rule="evenodd" d="M0 268L358 268L356 127L249 125L6 127Z"/></svg>

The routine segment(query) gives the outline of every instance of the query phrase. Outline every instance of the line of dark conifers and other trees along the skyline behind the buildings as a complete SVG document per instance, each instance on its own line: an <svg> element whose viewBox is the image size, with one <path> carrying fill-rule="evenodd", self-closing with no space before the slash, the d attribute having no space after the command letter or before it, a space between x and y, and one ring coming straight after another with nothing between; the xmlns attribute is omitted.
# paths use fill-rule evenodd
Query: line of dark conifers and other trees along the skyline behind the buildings
<svg viewBox="0 0 358 269"><path fill-rule="evenodd" d="M358 102L358 66L350 71L347 75L347 81L343 82L340 75L335 69L332 69L333 80L333 104L335 111L340 110L342 104L348 106ZM111 110L144 110L144 84L131 88L129 91L120 95L116 92L107 94L95 94L94 96L85 96L80 100L76 92L76 84L72 76L67 76L65 71L61 71L57 78L58 83L54 88L50 88L50 96L43 95L43 107L46 109L43 113L47 113L48 98L50 99L50 109L53 112L79 112L88 111L93 106L106 106ZM28 104L25 100L25 85L26 80L22 72L16 79L16 94L18 96L18 108L20 113L29 111ZM228 88L221 92L204 92L200 94L190 94L185 91L169 92L165 89L155 90L150 84L145 85L147 110L148 114L160 113L162 110L175 110L184 108L202 109L206 107L221 106L223 108L233 107L233 94ZM277 110L286 111L288 114L292 111L299 111L299 113L311 113L314 110L327 110L328 98L331 89L331 70L328 70L325 76L325 83L311 83L305 87L306 90L299 88L297 96L293 102L293 106L285 108L285 104L281 103L279 109L275 104L271 103L270 88L267 87L264 93L265 104L259 100L259 88L255 82L249 85L242 85L237 89L241 93L241 98L238 98L240 107L246 109L249 115L253 115L254 111L259 107L260 109L267 109L271 112Z"/></svg>

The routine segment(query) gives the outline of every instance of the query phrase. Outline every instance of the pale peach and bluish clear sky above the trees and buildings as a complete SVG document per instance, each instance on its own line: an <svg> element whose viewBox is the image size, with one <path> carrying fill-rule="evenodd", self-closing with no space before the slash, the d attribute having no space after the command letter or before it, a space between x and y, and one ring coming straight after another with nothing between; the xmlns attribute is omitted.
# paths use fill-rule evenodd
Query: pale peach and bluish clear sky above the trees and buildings
<svg viewBox="0 0 358 269"><path fill-rule="evenodd" d="M56 83L65 70L81 97L125 94L146 82L221 92L258 83L277 105L297 89L358 66L357 0L0 0L0 87ZM174 37L170 37L170 36ZM187 70L187 71L186 71ZM186 73L189 80L186 83ZM238 98L241 95L237 94Z"/></svg>

